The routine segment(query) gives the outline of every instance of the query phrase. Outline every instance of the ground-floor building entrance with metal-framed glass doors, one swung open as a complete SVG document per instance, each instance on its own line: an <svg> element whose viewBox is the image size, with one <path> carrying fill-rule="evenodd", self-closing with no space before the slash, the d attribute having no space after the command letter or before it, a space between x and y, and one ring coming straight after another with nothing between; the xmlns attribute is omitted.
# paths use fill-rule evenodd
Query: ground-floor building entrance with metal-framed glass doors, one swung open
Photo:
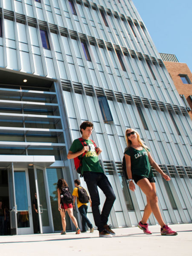
<svg viewBox="0 0 192 256"><path fill-rule="evenodd" d="M45 177L39 166L8 168L11 234L53 232Z"/></svg>

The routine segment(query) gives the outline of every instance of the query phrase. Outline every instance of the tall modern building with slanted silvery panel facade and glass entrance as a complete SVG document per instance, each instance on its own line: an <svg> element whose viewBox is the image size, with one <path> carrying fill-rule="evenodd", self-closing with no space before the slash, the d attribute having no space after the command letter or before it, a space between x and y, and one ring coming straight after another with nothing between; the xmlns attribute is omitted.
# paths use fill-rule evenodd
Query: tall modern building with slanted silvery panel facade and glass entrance
<svg viewBox="0 0 192 256"><path fill-rule="evenodd" d="M164 182L154 172L163 218L192 222L191 119L134 1L0 0L0 200L11 209L8 233L36 232L38 217L41 233L62 229L55 185L64 177L73 190L78 175L67 152L84 120L94 124L116 194L113 227L137 225L146 203L122 174L130 127L172 177ZM91 208L88 217L93 222Z"/></svg>

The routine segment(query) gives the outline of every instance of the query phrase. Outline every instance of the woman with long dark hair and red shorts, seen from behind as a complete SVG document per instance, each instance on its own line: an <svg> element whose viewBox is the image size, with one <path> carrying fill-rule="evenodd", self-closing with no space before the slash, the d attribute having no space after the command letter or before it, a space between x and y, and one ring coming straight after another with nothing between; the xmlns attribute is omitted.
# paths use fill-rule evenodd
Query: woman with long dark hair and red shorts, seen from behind
<svg viewBox="0 0 192 256"><path fill-rule="evenodd" d="M62 188L68 188L67 182L64 179L59 179L57 182L57 194L58 194L58 210L61 214L61 222L63 231L61 232L61 235L66 235L66 220L65 220L65 212L67 211L68 215L70 216L71 220L73 221L73 224L76 226L76 234L80 233L80 229L77 224L77 220L73 215L73 204L62 204L61 205L61 189Z"/></svg>

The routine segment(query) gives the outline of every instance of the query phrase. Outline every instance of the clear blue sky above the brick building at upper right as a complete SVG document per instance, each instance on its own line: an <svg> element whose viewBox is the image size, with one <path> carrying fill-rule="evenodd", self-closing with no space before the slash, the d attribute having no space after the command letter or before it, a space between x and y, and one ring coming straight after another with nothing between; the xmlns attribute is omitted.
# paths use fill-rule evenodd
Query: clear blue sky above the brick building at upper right
<svg viewBox="0 0 192 256"><path fill-rule="evenodd" d="M158 52L175 54L192 72L192 0L133 0Z"/></svg>

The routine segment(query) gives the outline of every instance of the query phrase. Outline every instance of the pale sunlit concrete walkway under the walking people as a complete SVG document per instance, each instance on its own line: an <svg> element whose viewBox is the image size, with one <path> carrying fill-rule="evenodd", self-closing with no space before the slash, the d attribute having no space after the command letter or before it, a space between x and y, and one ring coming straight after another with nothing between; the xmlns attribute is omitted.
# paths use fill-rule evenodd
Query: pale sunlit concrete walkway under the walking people
<svg viewBox="0 0 192 256"><path fill-rule="evenodd" d="M150 226L152 235L138 227L114 229L116 236L99 238L94 233L69 232L0 236L0 256L191 256L192 224L169 225L177 236L161 236L159 226Z"/></svg>

